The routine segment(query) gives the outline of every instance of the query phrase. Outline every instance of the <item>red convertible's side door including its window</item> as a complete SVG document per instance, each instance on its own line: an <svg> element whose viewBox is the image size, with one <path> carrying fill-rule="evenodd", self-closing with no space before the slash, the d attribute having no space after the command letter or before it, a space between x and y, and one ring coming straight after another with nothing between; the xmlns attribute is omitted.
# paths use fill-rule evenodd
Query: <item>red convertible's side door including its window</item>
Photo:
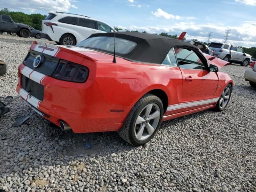
<svg viewBox="0 0 256 192"><path fill-rule="evenodd" d="M208 69L207 60L199 50L186 47L174 50L183 78L180 101L195 102L195 107L198 104L198 108L202 103L209 104L218 86L216 72Z"/></svg>

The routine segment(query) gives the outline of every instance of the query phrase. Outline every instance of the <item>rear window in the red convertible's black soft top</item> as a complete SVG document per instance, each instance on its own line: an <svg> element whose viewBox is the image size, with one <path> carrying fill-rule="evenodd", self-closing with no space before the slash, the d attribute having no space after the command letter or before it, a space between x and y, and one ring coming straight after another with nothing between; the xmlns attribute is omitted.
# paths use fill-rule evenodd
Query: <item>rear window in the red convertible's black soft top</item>
<svg viewBox="0 0 256 192"><path fill-rule="evenodd" d="M115 38L116 53L128 54L136 47L136 45L137 44L133 41ZM114 37L92 37L80 42L76 46L114 52Z"/></svg>

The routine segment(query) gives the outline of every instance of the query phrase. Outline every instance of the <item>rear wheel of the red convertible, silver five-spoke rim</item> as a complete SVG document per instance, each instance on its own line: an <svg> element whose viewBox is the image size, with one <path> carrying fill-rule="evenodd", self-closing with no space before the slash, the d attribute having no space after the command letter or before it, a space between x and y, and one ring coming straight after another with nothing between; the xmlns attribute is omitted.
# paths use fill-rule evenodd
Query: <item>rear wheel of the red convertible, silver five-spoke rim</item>
<svg viewBox="0 0 256 192"><path fill-rule="evenodd" d="M118 131L126 142L139 146L150 141L162 122L164 107L160 98L146 94L134 105Z"/></svg>

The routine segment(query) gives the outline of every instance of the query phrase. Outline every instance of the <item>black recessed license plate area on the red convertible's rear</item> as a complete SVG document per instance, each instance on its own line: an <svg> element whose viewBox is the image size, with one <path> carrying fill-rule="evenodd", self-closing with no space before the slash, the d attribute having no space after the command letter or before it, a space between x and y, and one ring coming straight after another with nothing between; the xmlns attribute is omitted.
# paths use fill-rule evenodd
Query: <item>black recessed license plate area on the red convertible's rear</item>
<svg viewBox="0 0 256 192"><path fill-rule="evenodd" d="M24 88L26 92L30 93L31 96L34 96L40 101L44 100L44 86L24 75L22 75L21 83L22 88Z"/></svg>

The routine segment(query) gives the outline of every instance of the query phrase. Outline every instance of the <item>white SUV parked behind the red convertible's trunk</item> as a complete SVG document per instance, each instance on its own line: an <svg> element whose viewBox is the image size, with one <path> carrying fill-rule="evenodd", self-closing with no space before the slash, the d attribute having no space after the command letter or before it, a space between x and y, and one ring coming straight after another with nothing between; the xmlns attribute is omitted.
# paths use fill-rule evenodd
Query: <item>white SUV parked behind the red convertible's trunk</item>
<svg viewBox="0 0 256 192"><path fill-rule="evenodd" d="M114 32L114 29L83 15L50 12L42 20L42 37L61 45L76 45L91 34L104 32Z"/></svg>

